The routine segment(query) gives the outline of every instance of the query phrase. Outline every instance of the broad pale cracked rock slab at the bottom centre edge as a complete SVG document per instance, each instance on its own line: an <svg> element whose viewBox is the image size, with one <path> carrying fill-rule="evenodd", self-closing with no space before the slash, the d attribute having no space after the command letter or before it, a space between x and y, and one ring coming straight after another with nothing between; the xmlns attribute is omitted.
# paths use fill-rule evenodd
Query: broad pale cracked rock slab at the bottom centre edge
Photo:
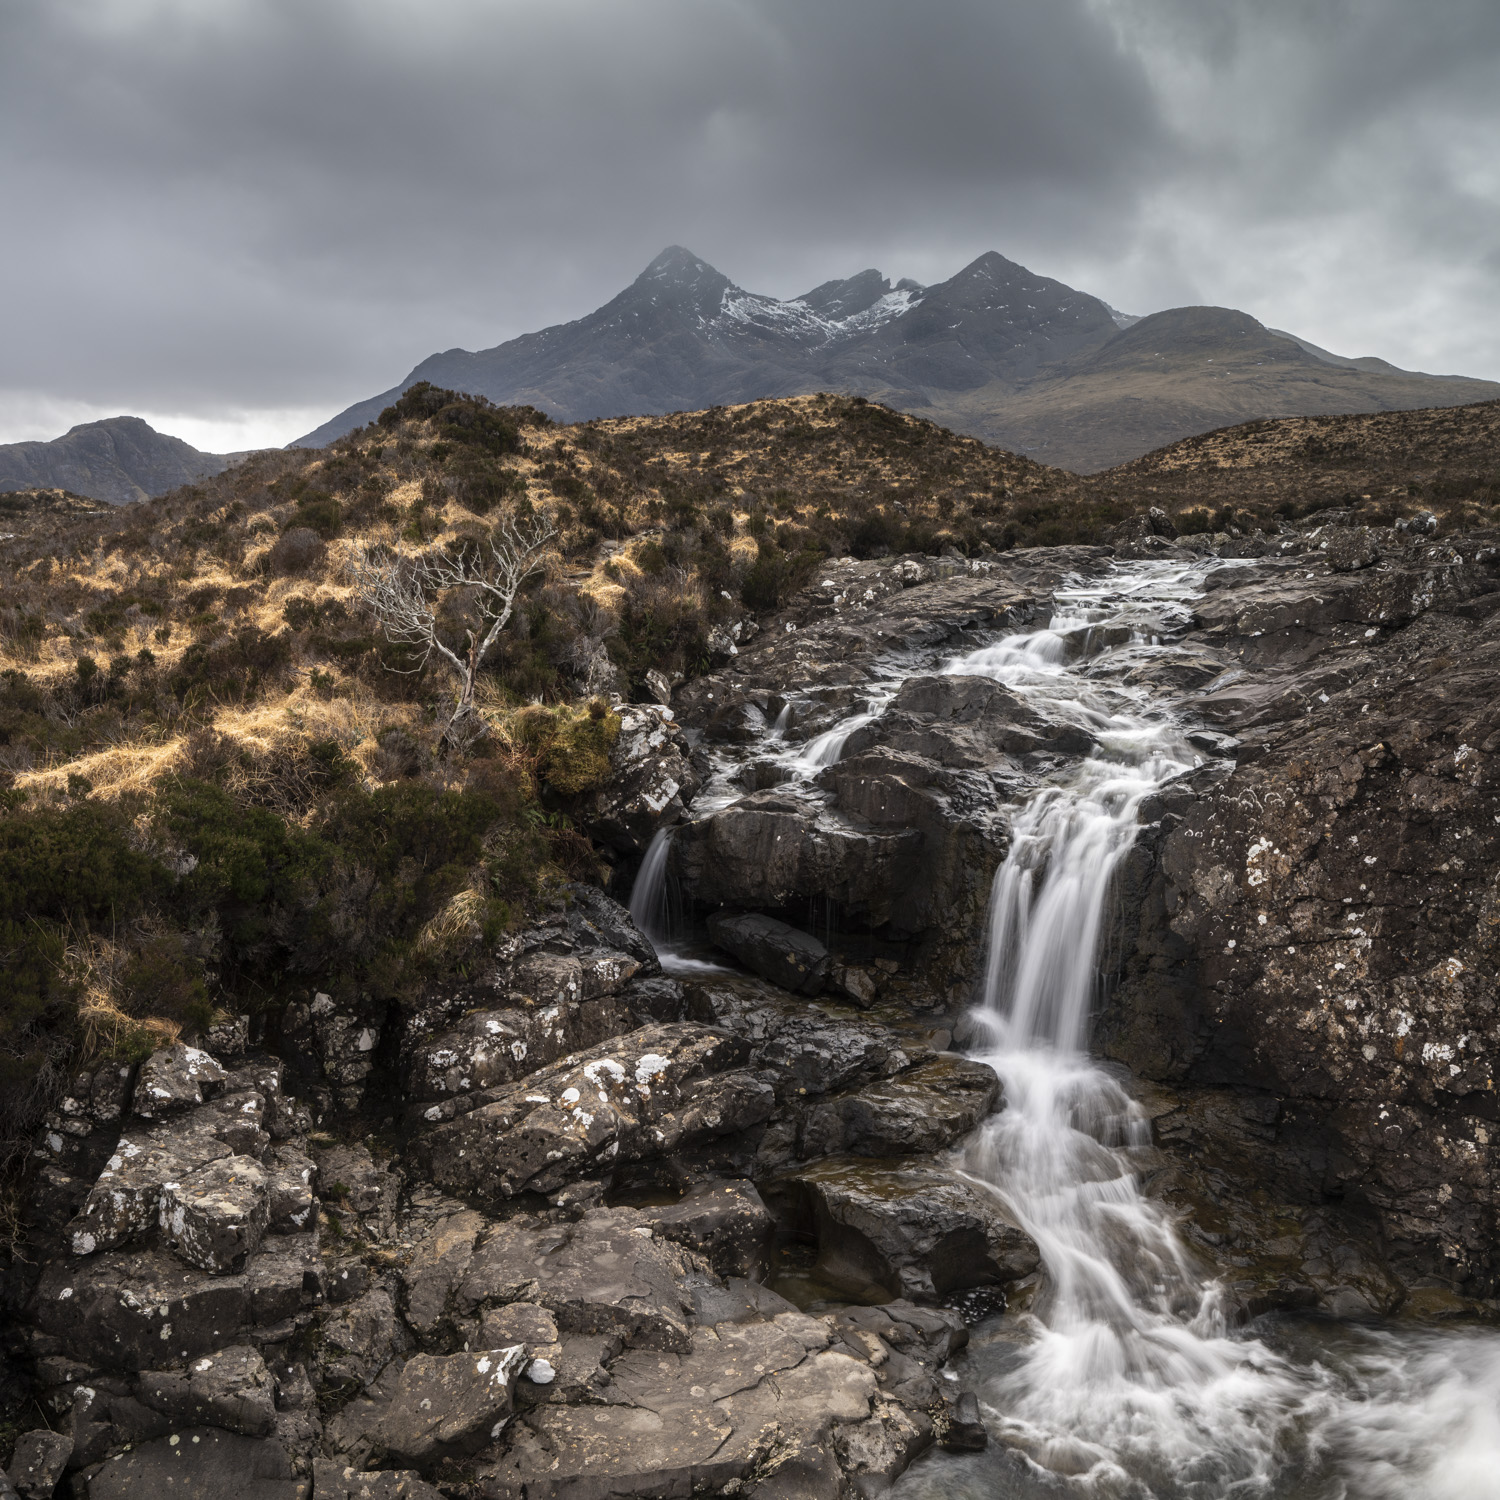
<svg viewBox="0 0 1500 1500"><path fill-rule="evenodd" d="M782 1314L698 1329L675 1353L627 1352L609 1406L525 1413L482 1484L495 1496L723 1492L812 1456L832 1486L819 1492L834 1496L832 1432L868 1419L878 1388L826 1342L814 1318Z"/></svg>

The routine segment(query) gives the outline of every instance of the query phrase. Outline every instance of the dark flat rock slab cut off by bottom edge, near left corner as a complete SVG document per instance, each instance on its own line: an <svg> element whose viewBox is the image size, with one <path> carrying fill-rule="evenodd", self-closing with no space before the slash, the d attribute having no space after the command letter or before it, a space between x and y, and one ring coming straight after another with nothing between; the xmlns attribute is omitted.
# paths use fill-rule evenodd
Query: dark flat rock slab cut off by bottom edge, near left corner
<svg viewBox="0 0 1500 1500"><path fill-rule="evenodd" d="M88 1500L312 1500L312 1480L292 1473L286 1449L270 1437L240 1437L212 1426L184 1428L118 1458L88 1479Z"/></svg>

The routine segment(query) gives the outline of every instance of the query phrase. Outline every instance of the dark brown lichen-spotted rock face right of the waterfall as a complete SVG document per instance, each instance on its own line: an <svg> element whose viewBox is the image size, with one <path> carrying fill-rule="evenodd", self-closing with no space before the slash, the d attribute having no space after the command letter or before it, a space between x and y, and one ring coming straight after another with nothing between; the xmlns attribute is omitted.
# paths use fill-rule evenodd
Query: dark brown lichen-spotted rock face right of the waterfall
<svg viewBox="0 0 1500 1500"><path fill-rule="evenodd" d="M1374 1215L1401 1280L1486 1294L1500 538L1328 540L1338 572L1312 552L1218 574L1198 604L1236 664L1196 702L1238 764L1150 813L1101 1040L1150 1078L1254 1106L1254 1154L1238 1110L1186 1108L1196 1158L1252 1155L1293 1216ZM1348 572L1346 543L1366 558Z"/></svg>

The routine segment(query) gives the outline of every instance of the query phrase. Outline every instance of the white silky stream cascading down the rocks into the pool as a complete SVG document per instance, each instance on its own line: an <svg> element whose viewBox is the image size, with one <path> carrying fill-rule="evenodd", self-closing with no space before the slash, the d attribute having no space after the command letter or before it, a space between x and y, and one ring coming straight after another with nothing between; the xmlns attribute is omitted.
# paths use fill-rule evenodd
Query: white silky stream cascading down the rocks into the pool
<svg viewBox="0 0 1500 1500"><path fill-rule="evenodd" d="M1035 1239L1041 1290L978 1330L960 1366L990 1449L930 1455L896 1500L1500 1497L1500 1335L1290 1318L1232 1329L1218 1284L1142 1191L1144 1114L1088 1054L1112 879L1142 801L1197 760L1172 705L1128 669L1173 650L1214 566L1118 567L1059 591L1044 630L942 668L998 680L1094 750L1011 813L976 1048L1005 1107L957 1154ZM894 686L794 752L794 774L836 760ZM663 938L666 854L658 836L632 900Z"/></svg>

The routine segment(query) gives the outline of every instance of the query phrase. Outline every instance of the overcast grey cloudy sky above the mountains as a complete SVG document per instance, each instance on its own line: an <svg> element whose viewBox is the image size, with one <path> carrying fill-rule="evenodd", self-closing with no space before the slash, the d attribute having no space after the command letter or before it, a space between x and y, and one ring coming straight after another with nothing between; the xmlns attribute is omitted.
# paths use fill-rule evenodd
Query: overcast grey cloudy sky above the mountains
<svg viewBox="0 0 1500 1500"><path fill-rule="evenodd" d="M286 442L664 246L1500 378L1497 0L0 0L0 441Z"/></svg>

